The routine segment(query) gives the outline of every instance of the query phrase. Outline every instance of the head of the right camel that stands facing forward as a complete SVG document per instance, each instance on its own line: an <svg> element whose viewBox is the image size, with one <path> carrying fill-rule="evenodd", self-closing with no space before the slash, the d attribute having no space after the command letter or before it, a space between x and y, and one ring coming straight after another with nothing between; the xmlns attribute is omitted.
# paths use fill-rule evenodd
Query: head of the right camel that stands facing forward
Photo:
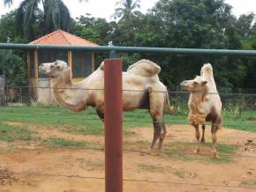
<svg viewBox="0 0 256 192"><path fill-rule="evenodd" d="M188 92L200 92L205 89L205 86L207 85L207 80L197 76L194 79L191 80L184 80L180 86L184 91Z"/></svg>

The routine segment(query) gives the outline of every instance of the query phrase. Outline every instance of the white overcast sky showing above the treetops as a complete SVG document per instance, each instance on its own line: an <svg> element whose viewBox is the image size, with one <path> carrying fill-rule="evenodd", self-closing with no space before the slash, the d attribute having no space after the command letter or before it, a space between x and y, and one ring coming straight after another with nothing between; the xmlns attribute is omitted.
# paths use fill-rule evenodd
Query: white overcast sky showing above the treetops
<svg viewBox="0 0 256 192"><path fill-rule="evenodd" d="M22 0L14 0L11 8L4 8L3 1L0 1L0 15L17 8ZM119 0L88 0L87 3L79 4L78 0L64 0L71 11L72 18L79 17L90 13L96 18L106 18L110 20L110 16L115 12L115 5ZM141 10L145 13L152 8L158 0L140 0ZM226 3L233 6L233 13L237 16L243 13L256 13L256 0L225 0Z"/></svg>

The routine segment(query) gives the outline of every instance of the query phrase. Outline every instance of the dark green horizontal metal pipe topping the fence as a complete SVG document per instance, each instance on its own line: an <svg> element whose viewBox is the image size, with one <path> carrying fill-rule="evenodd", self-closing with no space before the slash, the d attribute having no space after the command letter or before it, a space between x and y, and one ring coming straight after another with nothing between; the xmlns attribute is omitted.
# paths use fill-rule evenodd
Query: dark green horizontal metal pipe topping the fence
<svg viewBox="0 0 256 192"><path fill-rule="evenodd" d="M58 50L89 50L92 52L129 52L129 53L157 53L179 55L245 55L254 56L256 50L233 49L203 49L203 48L147 48L147 47L118 47L118 46L55 46L55 45L30 45L15 43L0 43L2 49L58 49Z"/></svg>

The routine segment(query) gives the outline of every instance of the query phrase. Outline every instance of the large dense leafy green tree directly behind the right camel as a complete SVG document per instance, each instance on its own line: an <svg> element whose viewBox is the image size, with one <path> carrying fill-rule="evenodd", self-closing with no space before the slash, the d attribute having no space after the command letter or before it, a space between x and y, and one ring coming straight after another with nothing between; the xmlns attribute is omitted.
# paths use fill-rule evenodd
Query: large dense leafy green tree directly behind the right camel
<svg viewBox="0 0 256 192"><path fill-rule="evenodd" d="M142 17L135 42L139 46L167 48L241 48L236 18L222 0L160 0ZM143 43L143 44L142 44ZM237 58L213 55L146 55L162 66L167 85L179 85L199 74L202 63L212 63L218 85L237 85L244 69ZM223 66L225 66L223 68Z"/></svg>

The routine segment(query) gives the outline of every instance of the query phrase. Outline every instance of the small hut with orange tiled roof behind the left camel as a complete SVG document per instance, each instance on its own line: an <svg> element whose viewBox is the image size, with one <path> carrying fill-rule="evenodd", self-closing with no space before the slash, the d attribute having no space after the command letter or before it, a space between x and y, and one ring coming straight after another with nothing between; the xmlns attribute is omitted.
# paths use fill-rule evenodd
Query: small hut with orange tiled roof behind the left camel
<svg viewBox="0 0 256 192"><path fill-rule="evenodd" d="M71 33L56 30L37 40L31 41L32 45L57 45L57 46L98 46L94 42L87 41ZM27 69L29 85L33 87L30 92L34 100L52 101L49 78L41 75L38 66L41 63L64 60L72 69L72 81L78 82L86 78L94 71L94 53L88 51L66 51L34 49L27 53Z"/></svg>

